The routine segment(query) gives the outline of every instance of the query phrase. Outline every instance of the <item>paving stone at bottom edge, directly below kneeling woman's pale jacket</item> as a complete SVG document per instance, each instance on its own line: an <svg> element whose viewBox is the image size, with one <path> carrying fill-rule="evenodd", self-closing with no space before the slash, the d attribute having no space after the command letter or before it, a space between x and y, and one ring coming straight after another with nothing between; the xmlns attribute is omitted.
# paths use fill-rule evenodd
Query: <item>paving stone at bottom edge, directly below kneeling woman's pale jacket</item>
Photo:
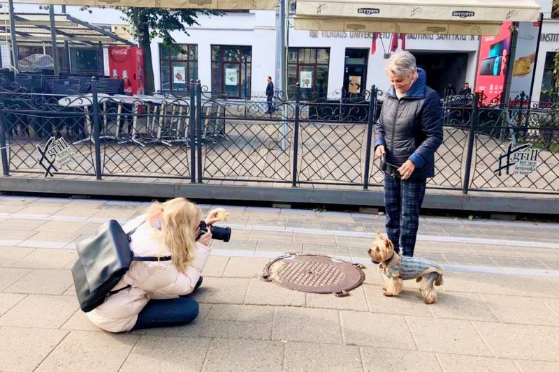
<svg viewBox="0 0 559 372"><path fill-rule="evenodd" d="M116 371L139 336L73 331L36 371Z"/></svg>

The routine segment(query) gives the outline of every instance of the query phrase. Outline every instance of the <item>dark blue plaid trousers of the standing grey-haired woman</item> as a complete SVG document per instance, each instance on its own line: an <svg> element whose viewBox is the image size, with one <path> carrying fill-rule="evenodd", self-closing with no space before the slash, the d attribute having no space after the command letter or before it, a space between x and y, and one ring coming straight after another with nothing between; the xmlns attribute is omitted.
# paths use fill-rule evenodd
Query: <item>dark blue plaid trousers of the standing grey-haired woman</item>
<svg viewBox="0 0 559 372"><path fill-rule="evenodd" d="M384 174L384 207L386 207L386 235L394 250L403 255L414 255L419 209L425 196L426 179L395 178Z"/></svg>

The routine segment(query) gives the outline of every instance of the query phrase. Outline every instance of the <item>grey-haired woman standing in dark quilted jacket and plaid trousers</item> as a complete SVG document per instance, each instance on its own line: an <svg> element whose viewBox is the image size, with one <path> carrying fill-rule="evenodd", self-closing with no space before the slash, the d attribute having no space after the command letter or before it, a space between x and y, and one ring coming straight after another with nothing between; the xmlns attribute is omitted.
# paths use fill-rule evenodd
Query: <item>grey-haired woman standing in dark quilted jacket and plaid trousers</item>
<svg viewBox="0 0 559 372"><path fill-rule="evenodd" d="M442 143L442 108L426 73L409 52L386 66L391 88L375 124L375 156L382 158L386 235L395 251L413 256L426 179L435 176L435 151Z"/></svg>

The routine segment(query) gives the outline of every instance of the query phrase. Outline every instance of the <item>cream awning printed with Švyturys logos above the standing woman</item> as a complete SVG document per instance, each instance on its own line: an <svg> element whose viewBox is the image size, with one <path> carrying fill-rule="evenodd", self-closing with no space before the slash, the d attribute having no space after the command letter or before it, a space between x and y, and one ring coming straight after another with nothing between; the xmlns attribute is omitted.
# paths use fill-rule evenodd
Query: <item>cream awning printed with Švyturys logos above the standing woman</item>
<svg viewBox="0 0 559 372"><path fill-rule="evenodd" d="M405 34L499 34L504 21L537 22L532 0L297 0L296 29Z"/></svg>

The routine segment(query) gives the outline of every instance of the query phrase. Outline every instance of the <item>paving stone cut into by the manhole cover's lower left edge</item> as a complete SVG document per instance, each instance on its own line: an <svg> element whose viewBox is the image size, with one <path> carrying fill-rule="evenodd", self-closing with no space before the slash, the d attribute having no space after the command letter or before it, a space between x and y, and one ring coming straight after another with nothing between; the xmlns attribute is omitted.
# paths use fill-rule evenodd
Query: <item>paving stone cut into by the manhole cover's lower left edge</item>
<svg viewBox="0 0 559 372"><path fill-rule="evenodd" d="M247 305L305 306L305 293L283 288L273 282L250 279Z"/></svg>

